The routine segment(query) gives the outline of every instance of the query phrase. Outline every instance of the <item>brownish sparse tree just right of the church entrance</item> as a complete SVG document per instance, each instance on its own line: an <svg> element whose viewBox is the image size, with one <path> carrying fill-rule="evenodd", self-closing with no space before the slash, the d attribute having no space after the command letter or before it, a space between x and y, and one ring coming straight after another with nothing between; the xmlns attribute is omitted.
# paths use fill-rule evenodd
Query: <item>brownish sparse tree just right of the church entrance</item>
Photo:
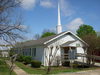
<svg viewBox="0 0 100 75"><path fill-rule="evenodd" d="M89 45L88 50L87 50L88 64L94 65L95 58L93 58L92 55L96 55L97 48L98 48L98 45L99 45L98 38L95 35L88 34L88 35L85 35L84 37L82 37L82 39Z"/></svg>

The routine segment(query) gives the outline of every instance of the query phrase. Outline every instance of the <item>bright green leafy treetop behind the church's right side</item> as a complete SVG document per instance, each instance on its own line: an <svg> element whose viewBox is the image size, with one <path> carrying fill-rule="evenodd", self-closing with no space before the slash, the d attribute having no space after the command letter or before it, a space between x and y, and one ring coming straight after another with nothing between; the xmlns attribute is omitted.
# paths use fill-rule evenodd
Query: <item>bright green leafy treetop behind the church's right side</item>
<svg viewBox="0 0 100 75"><path fill-rule="evenodd" d="M85 25L85 24L81 25L76 32L79 37L84 37L85 35L88 35L88 34L96 35L96 32L93 29L93 27L90 25Z"/></svg>

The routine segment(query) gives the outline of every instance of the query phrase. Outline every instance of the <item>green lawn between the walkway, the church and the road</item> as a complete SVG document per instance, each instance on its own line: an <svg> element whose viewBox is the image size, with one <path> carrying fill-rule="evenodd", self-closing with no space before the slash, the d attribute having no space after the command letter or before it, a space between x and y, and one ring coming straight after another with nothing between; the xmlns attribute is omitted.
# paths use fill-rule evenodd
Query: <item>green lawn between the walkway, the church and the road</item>
<svg viewBox="0 0 100 75"><path fill-rule="evenodd" d="M15 63L18 67L26 71L28 74L46 74L45 67L41 68L32 68L27 65L24 65L21 62ZM86 69L71 69L68 67L52 67L50 74L57 74L57 73L65 73L65 72L78 72L78 71L85 71L85 70L91 70L95 68L86 68Z"/></svg>

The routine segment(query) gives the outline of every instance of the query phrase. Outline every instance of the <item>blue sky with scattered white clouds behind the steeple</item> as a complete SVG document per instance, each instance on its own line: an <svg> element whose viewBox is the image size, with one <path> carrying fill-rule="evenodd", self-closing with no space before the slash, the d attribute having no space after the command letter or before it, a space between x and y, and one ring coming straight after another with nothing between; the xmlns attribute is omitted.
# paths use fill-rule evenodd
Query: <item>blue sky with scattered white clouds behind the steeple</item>
<svg viewBox="0 0 100 75"><path fill-rule="evenodd" d="M61 8L63 31L76 32L81 24L91 25L100 31L100 0L21 0L23 25L28 39L43 30L55 30L57 26L57 6Z"/></svg>

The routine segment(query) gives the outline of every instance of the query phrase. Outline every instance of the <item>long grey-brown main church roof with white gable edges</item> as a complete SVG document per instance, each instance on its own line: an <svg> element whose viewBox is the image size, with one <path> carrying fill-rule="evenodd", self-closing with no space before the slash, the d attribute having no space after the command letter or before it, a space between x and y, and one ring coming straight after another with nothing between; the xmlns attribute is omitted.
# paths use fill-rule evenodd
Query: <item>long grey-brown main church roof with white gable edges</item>
<svg viewBox="0 0 100 75"><path fill-rule="evenodd" d="M45 38L40 38L38 40L29 40L29 41L26 41L26 42L16 43L15 46L16 47L26 47L26 46L44 45L44 44L47 44L50 41L53 41L54 39L60 37L62 34L65 34L65 33L71 33L72 34L72 32L70 32L70 31L65 31L65 32L62 32L60 34L52 35L52 36L45 37ZM74 35L74 36L76 36L76 35ZM79 40L81 40L78 36L76 36L76 37ZM83 40L81 40L81 41L83 43L85 43ZM71 43L71 42L69 42L69 43Z"/></svg>

